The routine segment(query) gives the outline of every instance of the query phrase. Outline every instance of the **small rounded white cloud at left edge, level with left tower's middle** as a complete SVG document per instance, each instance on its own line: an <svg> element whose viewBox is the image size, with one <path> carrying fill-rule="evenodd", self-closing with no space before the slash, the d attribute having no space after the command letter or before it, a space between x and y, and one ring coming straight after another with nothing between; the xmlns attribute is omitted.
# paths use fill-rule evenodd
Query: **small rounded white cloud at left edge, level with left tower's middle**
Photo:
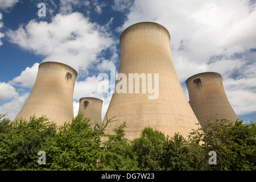
<svg viewBox="0 0 256 182"><path fill-rule="evenodd" d="M18 93L15 88L6 82L0 82L0 103L17 97Z"/></svg>

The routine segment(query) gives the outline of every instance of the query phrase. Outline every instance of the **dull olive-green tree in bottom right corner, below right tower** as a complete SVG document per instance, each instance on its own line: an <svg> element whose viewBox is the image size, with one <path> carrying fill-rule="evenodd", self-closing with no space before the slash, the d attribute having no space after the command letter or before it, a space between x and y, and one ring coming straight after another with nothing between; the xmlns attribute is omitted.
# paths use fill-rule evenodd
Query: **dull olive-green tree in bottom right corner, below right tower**
<svg viewBox="0 0 256 182"><path fill-rule="evenodd" d="M189 154L191 166L197 170L255 170L255 122L230 122L210 118L203 129L191 133ZM217 164L210 165L210 151L217 154Z"/></svg>

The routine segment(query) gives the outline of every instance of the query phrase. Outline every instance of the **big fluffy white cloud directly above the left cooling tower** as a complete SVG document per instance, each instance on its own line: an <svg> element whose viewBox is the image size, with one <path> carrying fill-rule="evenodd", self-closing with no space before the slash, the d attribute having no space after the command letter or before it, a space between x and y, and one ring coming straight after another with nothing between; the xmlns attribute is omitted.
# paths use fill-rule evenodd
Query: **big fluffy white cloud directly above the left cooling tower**
<svg viewBox="0 0 256 182"><path fill-rule="evenodd" d="M46 56L43 62L58 61L79 71L86 70L102 50L113 46L113 39L105 31L82 14L72 13L57 14L51 23L31 20L7 35L21 48Z"/></svg>

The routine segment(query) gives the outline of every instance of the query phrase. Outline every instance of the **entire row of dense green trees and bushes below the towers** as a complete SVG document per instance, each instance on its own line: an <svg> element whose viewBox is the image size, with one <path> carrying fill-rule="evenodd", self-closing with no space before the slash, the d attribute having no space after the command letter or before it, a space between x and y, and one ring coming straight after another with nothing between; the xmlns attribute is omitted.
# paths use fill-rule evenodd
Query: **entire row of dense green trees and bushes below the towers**
<svg viewBox="0 0 256 182"><path fill-rule="evenodd" d="M105 134L114 118L90 126L77 115L57 127L46 117L11 122L0 114L0 170L255 170L255 122L210 120L206 132L199 127L187 139L146 127L129 141L126 123ZM39 151L46 164L38 163ZM210 151L217 164L209 164Z"/></svg>

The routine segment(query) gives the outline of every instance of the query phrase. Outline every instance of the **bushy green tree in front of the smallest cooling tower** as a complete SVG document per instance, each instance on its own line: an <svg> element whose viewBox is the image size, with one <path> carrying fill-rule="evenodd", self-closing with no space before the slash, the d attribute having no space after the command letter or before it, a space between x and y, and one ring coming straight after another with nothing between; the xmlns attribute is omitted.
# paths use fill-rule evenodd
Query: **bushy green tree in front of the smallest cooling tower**
<svg viewBox="0 0 256 182"><path fill-rule="evenodd" d="M46 152L46 165L40 169L50 170L95 170L101 154L101 140L105 127L95 124L82 114L72 122L59 127L55 137L48 138L42 150Z"/></svg>

